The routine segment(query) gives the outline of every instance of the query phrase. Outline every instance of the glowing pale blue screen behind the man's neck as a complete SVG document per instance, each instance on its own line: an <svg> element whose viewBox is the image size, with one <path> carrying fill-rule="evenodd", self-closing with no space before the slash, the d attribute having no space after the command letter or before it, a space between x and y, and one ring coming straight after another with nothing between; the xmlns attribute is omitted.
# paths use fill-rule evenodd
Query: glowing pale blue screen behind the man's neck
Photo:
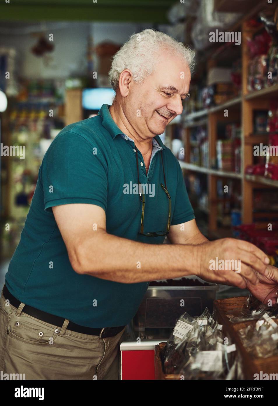
<svg viewBox="0 0 278 406"><path fill-rule="evenodd" d="M110 88L84 89L82 92L82 107L86 110L99 110L103 104L111 106L114 97L115 92Z"/></svg>

